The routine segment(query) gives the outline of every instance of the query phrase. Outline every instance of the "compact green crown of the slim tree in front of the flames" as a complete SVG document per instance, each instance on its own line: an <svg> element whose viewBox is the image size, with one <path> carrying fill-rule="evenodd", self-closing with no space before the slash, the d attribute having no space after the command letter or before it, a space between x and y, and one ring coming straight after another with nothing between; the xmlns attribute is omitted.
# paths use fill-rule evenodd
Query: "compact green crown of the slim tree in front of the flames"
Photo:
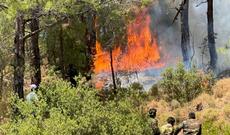
<svg viewBox="0 0 230 135"><path fill-rule="evenodd" d="M130 7L124 8L125 4L111 2L110 6L101 6L98 9L98 40L104 48L113 48L114 44L126 43L126 12Z"/></svg>

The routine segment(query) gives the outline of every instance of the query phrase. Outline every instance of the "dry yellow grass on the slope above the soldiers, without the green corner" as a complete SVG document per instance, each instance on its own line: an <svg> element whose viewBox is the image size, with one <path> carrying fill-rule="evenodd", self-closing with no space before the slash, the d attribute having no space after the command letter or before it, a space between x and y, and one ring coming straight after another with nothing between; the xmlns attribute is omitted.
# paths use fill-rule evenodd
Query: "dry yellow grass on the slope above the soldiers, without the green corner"
<svg viewBox="0 0 230 135"><path fill-rule="evenodd" d="M196 111L198 104L202 104L203 110ZM175 109L171 103L164 101L151 101L147 108L151 107L157 108L157 117L161 121L160 123L164 123L169 116L174 116L177 121L182 121L187 118L190 111L195 111L201 122L210 120L217 124L230 124L230 78L219 80L213 87L213 95L203 93L183 107Z"/></svg>

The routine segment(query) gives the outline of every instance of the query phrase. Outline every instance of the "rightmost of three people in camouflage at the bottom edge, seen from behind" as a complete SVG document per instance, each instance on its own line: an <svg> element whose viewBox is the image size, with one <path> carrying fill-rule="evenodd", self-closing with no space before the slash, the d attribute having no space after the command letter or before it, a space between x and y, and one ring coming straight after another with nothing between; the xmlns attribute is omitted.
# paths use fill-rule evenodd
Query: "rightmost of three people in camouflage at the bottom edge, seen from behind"
<svg viewBox="0 0 230 135"><path fill-rule="evenodd" d="M175 130L175 135L177 135L182 129L184 135L201 135L201 123L195 119L194 117L190 117L188 120L183 121Z"/></svg>

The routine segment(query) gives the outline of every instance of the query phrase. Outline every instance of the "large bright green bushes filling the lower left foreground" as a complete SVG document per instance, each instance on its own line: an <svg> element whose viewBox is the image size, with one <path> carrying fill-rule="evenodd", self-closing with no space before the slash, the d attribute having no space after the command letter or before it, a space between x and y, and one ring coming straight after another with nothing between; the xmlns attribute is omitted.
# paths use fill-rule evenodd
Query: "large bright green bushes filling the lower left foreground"
<svg viewBox="0 0 230 135"><path fill-rule="evenodd" d="M77 88L61 80L46 80L38 90L39 101L13 98L11 121L0 132L17 135L149 134L146 116L131 102L120 98L100 102L97 92L80 84ZM15 111L14 111L15 112Z"/></svg>

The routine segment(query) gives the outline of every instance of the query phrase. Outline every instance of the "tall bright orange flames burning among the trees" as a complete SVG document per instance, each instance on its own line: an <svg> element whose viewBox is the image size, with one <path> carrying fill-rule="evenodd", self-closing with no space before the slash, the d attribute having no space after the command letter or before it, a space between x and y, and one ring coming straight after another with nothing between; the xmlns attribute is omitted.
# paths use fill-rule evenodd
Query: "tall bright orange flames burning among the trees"
<svg viewBox="0 0 230 135"><path fill-rule="evenodd" d="M115 72L137 72L164 66L160 62L157 38L153 36L150 24L151 16L144 10L128 25L126 48L117 47L112 51ZM111 72L110 54L99 42L96 43L94 67L96 74Z"/></svg>

